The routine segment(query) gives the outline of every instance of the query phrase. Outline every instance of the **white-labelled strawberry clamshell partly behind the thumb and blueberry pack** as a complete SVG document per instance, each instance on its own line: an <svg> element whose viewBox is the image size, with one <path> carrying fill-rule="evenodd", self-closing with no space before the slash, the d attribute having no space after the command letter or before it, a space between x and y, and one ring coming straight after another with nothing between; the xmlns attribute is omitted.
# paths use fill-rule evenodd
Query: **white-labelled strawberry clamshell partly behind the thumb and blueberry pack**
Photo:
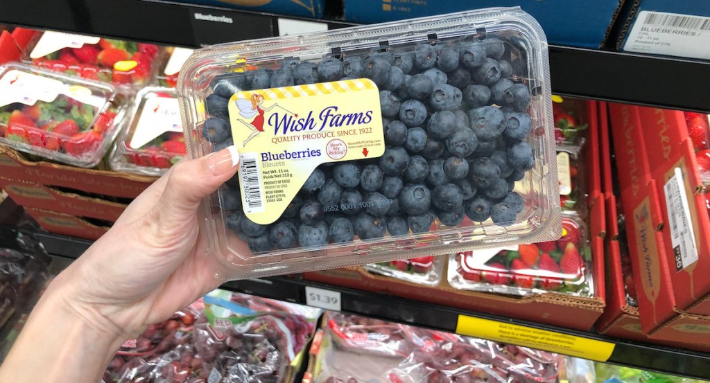
<svg viewBox="0 0 710 383"><path fill-rule="evenodd" d="M186 154L174 89L138 91L130 118L111 151L111 169L160 176Z"/></svg>

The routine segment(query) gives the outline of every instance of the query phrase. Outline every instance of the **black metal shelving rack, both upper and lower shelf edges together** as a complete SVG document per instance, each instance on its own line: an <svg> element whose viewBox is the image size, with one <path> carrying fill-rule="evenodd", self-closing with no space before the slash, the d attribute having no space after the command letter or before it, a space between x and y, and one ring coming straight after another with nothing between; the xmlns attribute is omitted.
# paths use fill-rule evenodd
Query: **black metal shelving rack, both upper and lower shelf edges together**
<svg viewBox="0 0 710 383"><path fill-rule="evenodd" d="M0 23L193 48L272 37L279 34L278 19L284 18L270 13L154 0L4 0L2 3ZM196 13L225 16L231 23L198 20ZM351 25L295 19L326 23L329 29ZM552 45L550 67L552 91L556 94L710 113L708 61ZM51 255L60 257L78 257L91 245L90 241L62 235L40 232L38 236ZM706 353L634 343L293 277L246 279L228 282L223 287L300 304L307 303L307 288L315 287L339 294L342 311L444 331L457 331L462 316L482 318L611 345L613 350L606 360L610 363L687 377L710 377L710 354ZM574 350L570 354L574 355Z"/></svg>

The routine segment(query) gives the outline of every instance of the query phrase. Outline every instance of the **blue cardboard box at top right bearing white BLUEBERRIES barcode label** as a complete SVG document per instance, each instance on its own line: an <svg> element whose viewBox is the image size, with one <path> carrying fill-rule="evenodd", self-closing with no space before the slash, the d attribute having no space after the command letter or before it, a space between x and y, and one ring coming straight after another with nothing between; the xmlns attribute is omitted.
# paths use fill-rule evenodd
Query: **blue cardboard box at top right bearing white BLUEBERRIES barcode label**
<svg viewBox="0 0 710 383"><path fill-rule="evenodd" d="M625 8L619 50L710 60L710 1L635 0Z"/></svg>

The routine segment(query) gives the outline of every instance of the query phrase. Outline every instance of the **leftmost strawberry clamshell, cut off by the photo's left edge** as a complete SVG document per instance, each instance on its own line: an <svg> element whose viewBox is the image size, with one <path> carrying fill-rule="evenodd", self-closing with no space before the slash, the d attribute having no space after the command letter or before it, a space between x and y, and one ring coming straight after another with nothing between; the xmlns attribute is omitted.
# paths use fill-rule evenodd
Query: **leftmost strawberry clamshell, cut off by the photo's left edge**
<svg viewBox="0 0 710 383"><path fill-rule="evenodd" d="M0 144L94 167L124 118L115 96L111 84L17 63L0 66Z"/></svg>

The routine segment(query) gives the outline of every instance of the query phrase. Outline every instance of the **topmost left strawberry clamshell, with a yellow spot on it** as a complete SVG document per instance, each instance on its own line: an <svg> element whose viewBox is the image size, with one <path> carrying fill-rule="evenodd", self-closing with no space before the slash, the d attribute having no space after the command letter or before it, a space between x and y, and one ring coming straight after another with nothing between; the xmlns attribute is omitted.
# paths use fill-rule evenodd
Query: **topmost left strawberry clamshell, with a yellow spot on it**
<svg viewBox="0 0 710 383"><path fill-rule="evenodd" d="M142 87L151 80L158 45L55 32L40 33L25 59L38 67L120 87Z"/></svg>

